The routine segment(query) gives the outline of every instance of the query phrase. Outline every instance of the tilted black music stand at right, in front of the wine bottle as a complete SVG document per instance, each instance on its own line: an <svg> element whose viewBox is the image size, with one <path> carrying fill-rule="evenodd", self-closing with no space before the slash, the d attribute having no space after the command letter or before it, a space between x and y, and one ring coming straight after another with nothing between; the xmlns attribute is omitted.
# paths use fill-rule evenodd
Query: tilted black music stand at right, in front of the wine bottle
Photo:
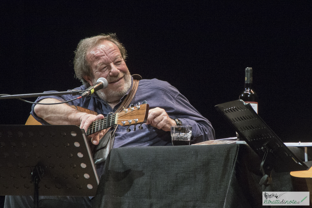
<svg viewBox="0 0 312 208"><path fill-rule="evenodd" d="M262 159L261 171L263 178L261 184L270 182L271 172L291 172L308 170L312 164L302 162L271 128L241 99L215 106L223 117L231 124L240 137Z"/></svg>

